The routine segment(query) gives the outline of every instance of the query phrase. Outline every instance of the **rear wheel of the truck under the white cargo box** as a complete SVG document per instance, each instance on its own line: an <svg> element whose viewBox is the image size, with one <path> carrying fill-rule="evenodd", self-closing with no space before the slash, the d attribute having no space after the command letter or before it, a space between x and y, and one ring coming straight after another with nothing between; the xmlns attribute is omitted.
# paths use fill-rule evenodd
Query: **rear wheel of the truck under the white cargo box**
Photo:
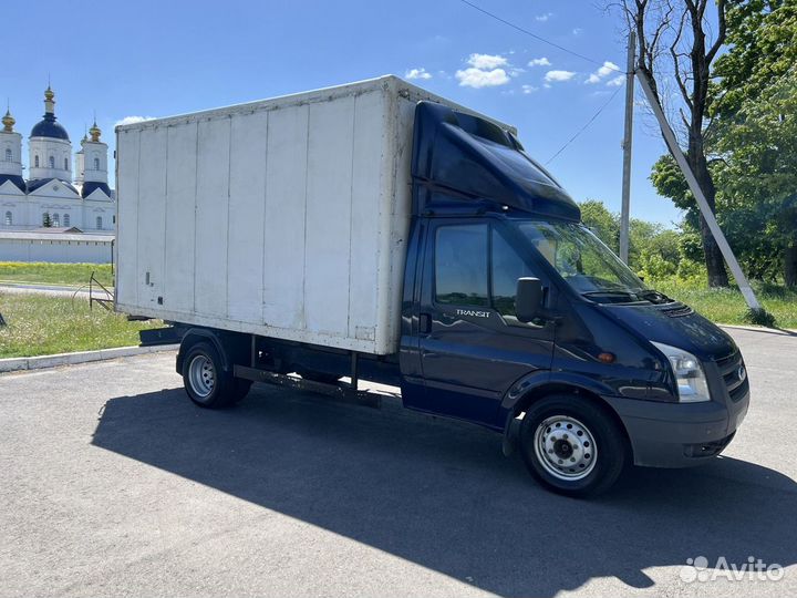
<svg viewBox="0 0 797 598"><path fill-rule="evenodd" d="M209 342L197 342L183 360L183 384L188 398L200 408L221 409L242 399L249 386L242 392L244 385L237 382L224 371L221 357Z"/></svg>

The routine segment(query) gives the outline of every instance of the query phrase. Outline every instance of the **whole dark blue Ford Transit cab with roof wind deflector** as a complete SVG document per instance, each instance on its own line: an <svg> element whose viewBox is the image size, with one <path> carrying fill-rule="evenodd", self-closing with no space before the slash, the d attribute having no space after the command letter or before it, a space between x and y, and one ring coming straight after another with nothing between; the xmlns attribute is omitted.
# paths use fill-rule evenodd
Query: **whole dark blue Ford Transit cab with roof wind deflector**
<svg viewBox="0 0 797 598"><path fill-rule="evenodd" d="M415 127L405 405L518 426L531 473L568 494L717 455L748 404L733 340L648 288L510 133L434 104Z"/></svg>

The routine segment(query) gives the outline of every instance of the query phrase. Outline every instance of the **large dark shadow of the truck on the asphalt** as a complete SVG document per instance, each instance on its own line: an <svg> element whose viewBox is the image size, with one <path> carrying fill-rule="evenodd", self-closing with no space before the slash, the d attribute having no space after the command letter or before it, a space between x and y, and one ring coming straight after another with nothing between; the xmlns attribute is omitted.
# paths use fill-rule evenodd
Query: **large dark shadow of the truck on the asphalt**
<svg viewBox="0 0 797 598"><path fill-rule="evenodd" d="M633 470L575 501L504 457L498 434L257 385L228 411L183 389L111 399L93 444L504 596L646 588L644 569L697 556L797 560L795 482L729 457Z"/></svg>

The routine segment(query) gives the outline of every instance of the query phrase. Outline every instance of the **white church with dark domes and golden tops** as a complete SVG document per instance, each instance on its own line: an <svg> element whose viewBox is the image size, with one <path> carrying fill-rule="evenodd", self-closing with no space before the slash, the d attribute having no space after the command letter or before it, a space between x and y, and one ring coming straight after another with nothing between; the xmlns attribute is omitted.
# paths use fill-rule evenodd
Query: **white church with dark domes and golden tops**
<svg viewBox="0 0 797 598"><path fill-rule="evenodd" d="M0 122L0 233L114 234L116 202L108 187L107 145L96 122L73 154L69 133L55 117L55 94L48 86L44 115L28 137L27 176L22 135L14 130L10 110Z"/></svg>

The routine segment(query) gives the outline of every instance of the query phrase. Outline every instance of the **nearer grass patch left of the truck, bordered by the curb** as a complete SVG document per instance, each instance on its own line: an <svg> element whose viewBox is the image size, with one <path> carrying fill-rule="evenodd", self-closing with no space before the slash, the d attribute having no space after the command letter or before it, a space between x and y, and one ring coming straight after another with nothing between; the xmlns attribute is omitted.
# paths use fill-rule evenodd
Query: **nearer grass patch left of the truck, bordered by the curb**
<svg viewBox="0 0 797 598"><path fill-rule="evenodd" d="M125 316L87 299L0 291L0 358L35 357L138 344L138 330L159 328L161 320L128 322Z"/></svg>

